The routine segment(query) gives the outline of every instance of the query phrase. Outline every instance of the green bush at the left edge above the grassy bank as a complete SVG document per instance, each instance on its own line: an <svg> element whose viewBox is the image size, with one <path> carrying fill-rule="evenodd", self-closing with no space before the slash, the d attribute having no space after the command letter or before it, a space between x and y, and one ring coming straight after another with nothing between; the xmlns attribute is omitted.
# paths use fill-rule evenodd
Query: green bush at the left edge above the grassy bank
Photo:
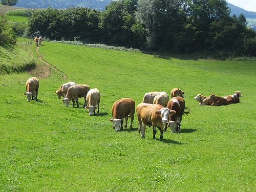
<svg viewBox="0 0 256 192"><path fill-rule="evenodd" d="M5 15L0 14L0 45L14 45L16 43L16 36L7 24Z"/></svg>

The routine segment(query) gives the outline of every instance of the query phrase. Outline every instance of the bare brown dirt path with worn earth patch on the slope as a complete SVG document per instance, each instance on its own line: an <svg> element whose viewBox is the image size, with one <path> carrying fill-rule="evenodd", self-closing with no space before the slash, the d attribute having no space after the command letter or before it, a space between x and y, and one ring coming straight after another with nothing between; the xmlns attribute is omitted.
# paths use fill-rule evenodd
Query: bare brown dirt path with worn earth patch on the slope
<svg viewBox="0 0 256 192"><path fill-rule="evenodd" d="M38 55L40 47L36 47L36 52ZM36 67L30 71L28 71L33 76L39 77L39 78L47 78L51 75L51 71L55 71L58 74L62 76L63 79L67 79L67 76L63 73L61 73L58 69L56 69L54 66L52 66L50 63L46 62L44 59L42 59L42 56L39 56L38 59L44 63L44 65L36 65Z"/></svg>

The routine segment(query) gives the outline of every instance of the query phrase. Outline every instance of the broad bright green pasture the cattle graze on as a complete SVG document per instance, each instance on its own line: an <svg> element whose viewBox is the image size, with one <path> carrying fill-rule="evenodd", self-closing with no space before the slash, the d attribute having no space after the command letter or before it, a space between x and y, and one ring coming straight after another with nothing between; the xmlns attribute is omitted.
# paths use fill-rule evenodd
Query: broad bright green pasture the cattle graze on
<svg viewBox="0 0 256 192"><path fill-rule="evenodd" d="M39 79L40 100L27 102L29 74L0 76L0 190L255 190L255 61L166 58L54 42L44 42L40 53L68 78L52 72ZM54 92L70 80L100 90L99 115L57 99ZM181 133L168 130L163 141L153 140L147 127L142 140L137 118L133 130L112 129L114 101L131 97L138 104L146 92L174 87L185 91L191 108ZM199 106L193 99L238 90L238 104Z"/></svg>

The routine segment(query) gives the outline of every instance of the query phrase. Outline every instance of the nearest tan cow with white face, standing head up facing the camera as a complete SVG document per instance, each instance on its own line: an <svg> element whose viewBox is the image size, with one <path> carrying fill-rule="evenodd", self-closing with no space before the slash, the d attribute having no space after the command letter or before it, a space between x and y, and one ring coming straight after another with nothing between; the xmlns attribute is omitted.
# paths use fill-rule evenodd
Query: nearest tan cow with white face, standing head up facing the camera
<svg viewBox="0 0 256 192"><path fill-rule="evenodd" d="M137 105L136 113L139 122L141 138L145 138L145 127L153 126L153 139L156 139L156 127L160 130L160 139L163 139L164 124L175 111L164 108L160 104L140 103Z"/></svg>

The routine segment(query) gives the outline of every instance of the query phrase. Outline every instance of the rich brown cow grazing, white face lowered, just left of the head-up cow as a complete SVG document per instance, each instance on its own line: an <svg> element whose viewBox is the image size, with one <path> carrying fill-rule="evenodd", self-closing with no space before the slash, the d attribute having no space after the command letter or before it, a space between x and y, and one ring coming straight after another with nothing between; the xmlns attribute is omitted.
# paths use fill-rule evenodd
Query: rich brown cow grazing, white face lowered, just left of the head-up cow
<svg viewBox="0 0 256 192"><path fill-rule="evenodd" d="M123 130L123 119L125 119L124 128L127 127L128 117L131 117L130 129L133 128L133 119L135 113L135 101L131 98L122 98L114 102L112 106L112 119L113 128L118 132Z"/></svg>

